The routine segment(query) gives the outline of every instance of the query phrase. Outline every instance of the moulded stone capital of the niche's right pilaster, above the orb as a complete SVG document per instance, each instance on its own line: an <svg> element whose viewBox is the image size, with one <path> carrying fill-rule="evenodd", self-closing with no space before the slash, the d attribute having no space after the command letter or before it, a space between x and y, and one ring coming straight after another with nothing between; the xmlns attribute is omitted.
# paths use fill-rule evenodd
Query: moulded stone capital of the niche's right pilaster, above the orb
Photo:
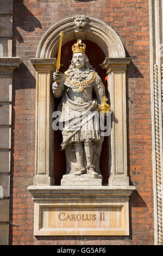
<svg viewBox="0 0 163 256"><path fill-rule="evenodd" d="M111 71L124 71L131 62L131 58L105 58L104 62L99 64L107 74Z"/></svg>

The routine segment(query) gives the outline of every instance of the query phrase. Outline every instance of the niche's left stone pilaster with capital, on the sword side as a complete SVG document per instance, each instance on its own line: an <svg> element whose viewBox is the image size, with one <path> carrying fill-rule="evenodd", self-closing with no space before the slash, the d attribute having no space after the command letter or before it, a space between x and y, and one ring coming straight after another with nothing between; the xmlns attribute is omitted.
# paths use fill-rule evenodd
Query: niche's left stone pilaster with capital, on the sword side
<svg viewBox="0 0 163 256"><path fill-rule="evenodd" d="M34 185L54 184L54 131L52 113L54 109L51 92L52 71L55 58L30 59L36 70L36 127L35 127L35 177Z"/></svg>

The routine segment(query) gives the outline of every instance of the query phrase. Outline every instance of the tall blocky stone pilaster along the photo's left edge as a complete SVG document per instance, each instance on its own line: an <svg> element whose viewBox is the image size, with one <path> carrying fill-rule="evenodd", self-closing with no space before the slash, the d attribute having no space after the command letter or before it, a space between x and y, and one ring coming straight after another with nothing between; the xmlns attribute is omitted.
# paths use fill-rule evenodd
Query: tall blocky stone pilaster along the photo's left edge
<svg viewBox="0 0 163 256"><path fill-rule="evenodd" d="M9 173L12 102L13 0L1 0L0 8L0 245L9 242ZM15 62L15 60L14 60ZM17 62L17 60L16 60ZM15 62L15 64L16 64ZM15 66L16 68L16 66Z"/></svg>

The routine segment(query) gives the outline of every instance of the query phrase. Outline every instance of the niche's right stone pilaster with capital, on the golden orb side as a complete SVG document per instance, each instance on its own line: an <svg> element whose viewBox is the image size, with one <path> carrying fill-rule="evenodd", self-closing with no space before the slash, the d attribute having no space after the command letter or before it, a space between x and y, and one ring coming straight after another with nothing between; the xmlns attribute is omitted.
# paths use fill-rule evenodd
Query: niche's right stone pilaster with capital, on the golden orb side
<svg viewBox="0 0 163 256"><path fill-rule="evenodd" d="M106 58L101 67L108 74L111 104L109 137L109 185L127 186L126 69L131 58Z"/></svg>

